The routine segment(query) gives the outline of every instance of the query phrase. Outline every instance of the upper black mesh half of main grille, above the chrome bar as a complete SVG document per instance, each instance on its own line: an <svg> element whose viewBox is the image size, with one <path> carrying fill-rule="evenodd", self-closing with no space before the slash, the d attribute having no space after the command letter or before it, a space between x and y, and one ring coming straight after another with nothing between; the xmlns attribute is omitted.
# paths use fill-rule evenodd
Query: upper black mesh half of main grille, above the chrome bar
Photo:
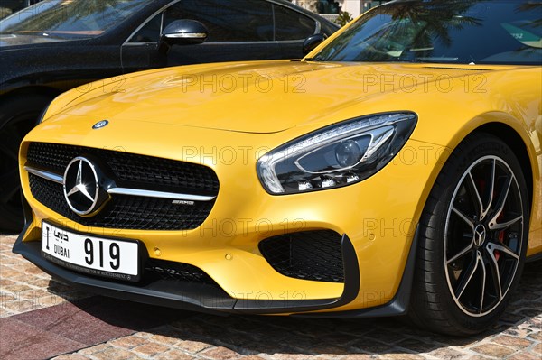
<svg viewBox="0 0 542 360"><path fill-rule="evenodd" d="M138 186L138 189L165 187L211 196L219 193L219 179L215 172L207 166L190 162L57 143L31 143L26 159L33 166L63 174L68 164L78 156L99 159L113 173L118 186Z"/></svg>

